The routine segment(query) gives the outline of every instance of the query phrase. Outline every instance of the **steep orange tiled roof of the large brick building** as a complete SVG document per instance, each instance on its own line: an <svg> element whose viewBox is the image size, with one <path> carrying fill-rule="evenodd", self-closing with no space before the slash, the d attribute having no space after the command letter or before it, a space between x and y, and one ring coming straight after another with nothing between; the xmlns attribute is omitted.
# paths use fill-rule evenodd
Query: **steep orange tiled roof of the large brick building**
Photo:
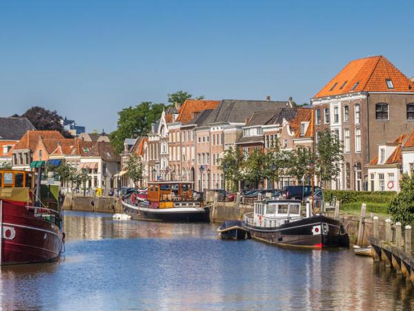
<svg viewBox="0 0 414 311"><path fill-rule="evenodd" d="M393 88L388 88L386 79L391 79ZM347 64L314 98L361 91L414 93L414 83L386 57L365 57Z"/></svg>

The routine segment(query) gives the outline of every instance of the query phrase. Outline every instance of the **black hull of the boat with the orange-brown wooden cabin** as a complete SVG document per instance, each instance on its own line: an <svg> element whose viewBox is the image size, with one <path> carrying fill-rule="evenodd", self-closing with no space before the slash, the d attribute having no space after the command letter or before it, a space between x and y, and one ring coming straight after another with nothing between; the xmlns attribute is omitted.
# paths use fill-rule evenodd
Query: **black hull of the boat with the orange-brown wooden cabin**
<svg viewBox="0 0 414 311"><path fill-rule="evenodd" d="M135 220L160 221L169 223L208 223L210 209L208 207L186 207L170 209L152 209L145 203L134 206L122 202L124 211Z"/></svg>

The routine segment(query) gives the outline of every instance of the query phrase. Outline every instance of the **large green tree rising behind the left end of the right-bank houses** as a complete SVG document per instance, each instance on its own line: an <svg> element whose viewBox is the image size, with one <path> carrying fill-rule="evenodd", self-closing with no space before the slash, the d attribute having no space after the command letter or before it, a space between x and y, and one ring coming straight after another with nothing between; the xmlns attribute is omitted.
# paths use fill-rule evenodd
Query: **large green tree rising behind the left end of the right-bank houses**
<svg viewBox="0 0 414 311"><path fill-rule="evenodd" d="M117 129L110 133L112 147L118 153L121 153L124 149L124 140L126 138L137 138L138 136L147 135L151 124L159 120L165 108L164 104L141 102L137 106L129 106L119 111Z"/></svg>

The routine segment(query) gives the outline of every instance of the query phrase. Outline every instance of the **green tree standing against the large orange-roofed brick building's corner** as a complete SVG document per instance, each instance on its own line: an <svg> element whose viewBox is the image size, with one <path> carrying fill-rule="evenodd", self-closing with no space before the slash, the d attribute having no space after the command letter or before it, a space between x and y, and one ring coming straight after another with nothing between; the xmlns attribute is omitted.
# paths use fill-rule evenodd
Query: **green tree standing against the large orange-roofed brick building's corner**
<svg viewBox="0 0 414 311"><path fill-rule="evenodd" d="M341 171L339 162L344 160L342 155L342 142L337 135L330 131L324 131L317 138L315 158L315 173L319 180L324 183L324 187L331 180L336 180Z"/></svg>

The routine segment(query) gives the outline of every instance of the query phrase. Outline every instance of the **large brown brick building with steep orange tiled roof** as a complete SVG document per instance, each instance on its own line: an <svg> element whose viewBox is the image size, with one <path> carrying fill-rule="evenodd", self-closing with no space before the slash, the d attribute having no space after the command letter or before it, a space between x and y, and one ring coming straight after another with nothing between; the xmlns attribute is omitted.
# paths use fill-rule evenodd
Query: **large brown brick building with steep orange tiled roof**
<svg viewBox="0 0 414 311"><path fill-rule="evenodd" d="M344 143L333 189L368 189L366 164L377 144L414 128L414 83L383 56L351 61L311 101L315 144L326 130Z"/></svg>

